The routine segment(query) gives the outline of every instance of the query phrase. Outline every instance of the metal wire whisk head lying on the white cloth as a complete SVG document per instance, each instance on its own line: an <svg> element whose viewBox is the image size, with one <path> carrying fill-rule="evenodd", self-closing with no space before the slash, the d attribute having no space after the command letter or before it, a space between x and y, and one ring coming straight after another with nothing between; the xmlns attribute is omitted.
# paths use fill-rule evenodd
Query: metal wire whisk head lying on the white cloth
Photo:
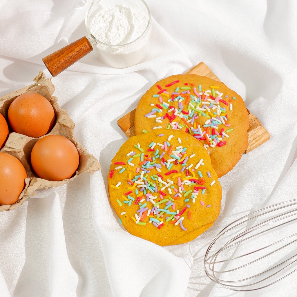
<svg viewBox="0 0 297 297"><path fill-rule="evenodd" d="M254 211L225 227L204 257L207 276L231 290L272 285L297 270L297 199Z"/></svg>

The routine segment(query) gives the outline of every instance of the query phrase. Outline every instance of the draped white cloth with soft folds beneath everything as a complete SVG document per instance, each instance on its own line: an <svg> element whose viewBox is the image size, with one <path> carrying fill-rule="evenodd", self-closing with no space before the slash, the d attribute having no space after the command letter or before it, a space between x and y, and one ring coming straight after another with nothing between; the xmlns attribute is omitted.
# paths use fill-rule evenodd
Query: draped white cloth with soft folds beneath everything
<svg viewBox="0 0 297 297"><path fill-rule="evenodd" d="M32 83L42 57L85 36L90 0L0 1L0 96ZM252 293L211 282L203 257L234 219L296 198L297 2L147 0L152 15L145 61L114 69L91 52L52 79L75 137L102 169L39 191L0 213L0 296L296 296L296 274ZM107 173L126 140L117 120L155 81L200 61L271 133L220 178L222 210L188 244L159 247L127 233L110 208Z"/></svg>

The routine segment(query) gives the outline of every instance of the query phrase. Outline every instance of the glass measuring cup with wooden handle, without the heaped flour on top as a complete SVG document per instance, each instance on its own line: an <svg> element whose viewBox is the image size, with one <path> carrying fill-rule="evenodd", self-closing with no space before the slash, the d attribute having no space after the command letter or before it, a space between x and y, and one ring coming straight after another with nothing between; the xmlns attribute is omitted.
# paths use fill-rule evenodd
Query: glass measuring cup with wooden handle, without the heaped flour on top
<svg viewBox="0 0 297 297"><path fill-rule="evenodd" d="M96 32L90 31L90 24L94 16L100 10L112 5L136 7L146 15L146 27L135 40L124 44L111 45L98 40L94 36ZM151 15L149 7L143 0L93 0L86 12L85 25L88 33L87 37L82 37L42 59L53 77L90 53L93 49L105 64L115 68L125 68L138 64L147 53L146 44L151 34Z"/></svg>

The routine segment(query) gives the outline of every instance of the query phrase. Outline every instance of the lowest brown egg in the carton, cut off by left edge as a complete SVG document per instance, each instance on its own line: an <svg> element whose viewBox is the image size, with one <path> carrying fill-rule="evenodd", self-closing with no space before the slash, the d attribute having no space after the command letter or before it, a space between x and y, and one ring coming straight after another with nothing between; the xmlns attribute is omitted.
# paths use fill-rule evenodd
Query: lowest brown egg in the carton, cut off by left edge
<svg viewBox="0 0 297 297"><path fill-rule="evenodd" d="M26 170L14 156L0 153L0 205L18 201L25 187Z"/></svg>

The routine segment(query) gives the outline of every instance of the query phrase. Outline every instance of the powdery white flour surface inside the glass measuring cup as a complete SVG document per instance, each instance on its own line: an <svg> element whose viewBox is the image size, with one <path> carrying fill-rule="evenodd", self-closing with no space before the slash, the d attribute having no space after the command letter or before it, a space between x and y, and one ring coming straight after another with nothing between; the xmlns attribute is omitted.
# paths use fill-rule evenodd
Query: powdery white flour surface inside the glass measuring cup
<svg viewBox="0 0 297 297"><path fill-rule="evenodd" d="M137 7L112 5L92 19L90 32L108 45L124 45L137 39L146 29L148 17Z"/></svg>

